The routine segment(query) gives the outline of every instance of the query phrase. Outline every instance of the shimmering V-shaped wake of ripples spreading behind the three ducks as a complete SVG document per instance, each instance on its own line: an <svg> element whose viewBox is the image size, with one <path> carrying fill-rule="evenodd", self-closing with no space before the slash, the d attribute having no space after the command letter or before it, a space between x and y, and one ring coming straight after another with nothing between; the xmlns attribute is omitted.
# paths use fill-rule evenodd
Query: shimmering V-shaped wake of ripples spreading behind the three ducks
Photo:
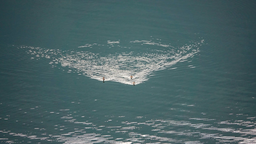
<svg viewBox="0 0 256 144"><path fill-rule="evenodd" d="M123 46L120 41L107 41L106 45L85 44L64 52L29 46L21 48L29 48L28 53L34 55L32 59L49 58L52 60L49 64L61 64L62 67L69 68L68 72L78 72L96 80L105 77L106 81L123 84L135 81L136 84L141 84L157 70L175 69L173 66L177 62L185 62L200 52L202 44L204 40L174 47L162 44L161 40L134 40L128 46ZM133 51L134 48L136 51Z"/></svg>

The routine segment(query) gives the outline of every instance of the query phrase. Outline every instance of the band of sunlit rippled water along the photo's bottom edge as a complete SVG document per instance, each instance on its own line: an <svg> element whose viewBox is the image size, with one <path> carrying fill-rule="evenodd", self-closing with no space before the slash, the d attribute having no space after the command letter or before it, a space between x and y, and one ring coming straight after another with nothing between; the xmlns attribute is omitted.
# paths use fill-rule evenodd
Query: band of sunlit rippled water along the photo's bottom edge
<svg viewBox="0 0 256 144"><path fill-rule="evenodd" d="M105 116L103 125L90 120L81 121L77 112L59 110L48 112L60 116L58 123L70 124L54 126L54 133L47 134L46 128L34 128L27 133L15 133L11 130L0 130L1 142L8 141L10 136L24 138L28 142L44 143L56 141L65 144L136 144L136 143L241 143L252 144L256 142L255 118L244 120L220 121L208 118L188 118L185 120L147 120L144 116L137 116L127 121L125 116ZM83 116L82 116L83 117ZM120 120L120 121L119 121ZM51 123L48 123L51 124ZM68 125L72 125L69 127ZM232 126L239 125L240 127ZM9 136L7 136L9 135ZM191 139L192 137L192 139ZM14 138L15 139L15 138ZM13 140L13 138L12 138ZM194 141L193 141L194 140Z"/></svg>

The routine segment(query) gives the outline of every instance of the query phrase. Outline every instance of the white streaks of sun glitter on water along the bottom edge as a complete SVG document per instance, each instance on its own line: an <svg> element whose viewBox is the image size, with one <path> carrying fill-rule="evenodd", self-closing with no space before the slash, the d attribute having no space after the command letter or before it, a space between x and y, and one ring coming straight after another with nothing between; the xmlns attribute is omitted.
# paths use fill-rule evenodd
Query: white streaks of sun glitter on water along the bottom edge
<svg viewBox="0 0 256 144"><path fill-rule="evenodd" d="M64 111L62 111L64 112ZM74 113L75 114L75 113ZM74 115L75 116L75 115ZM124 117L119 117L124 118ZM140 120L136 121L122 121L115 123L115 126L110 125L109 122L105 122L105 126L97 126L93 122L81 122L72 117L72 114L63 116L62 120L65 122L71 122L78 127L84 127L83 129L74 128L66 129L62 126L56 125L56 130L59 131L59 135L53 134L41 134L36 135L36 131L30 132L28 134L15 133L10 130L1 130L2 134L8 134L16 137L28 138L30 140L40 140L40 141L57 141L65 144L89 144L89 143L114 143L114 144L125 144L125 143L162 143L162 142L173 142L173 143L189 143L197 144L204 143L203 141L189 141L188 139L184 140L175 140L170 138L172 135L174 137L184 136L186 138L190 136L199 137L200 140L204 139L213 139L218 143L225 142L237 142L241 144L252 144L256 142L254 135L256 135L255 129L237 129L230 128L230 124L243 125L244 123L254 124L253 122L245 122L240 120L239 122L219 122L222 124L220 126L213 126L212 124L207 124L207 118L190 118L188 121L177 121L177 120L141 120L143 117L138 117ZM136 118L135 118L136 119ZM135 120L134 119L134 120ZM125 119L124 119L125 120ZM84 125L84 126L80 126ZM76 126L75 126L76 127ZM220 128L218 128L220 127ZM226 127L226 128L225 128ZM141 128L145 128L149 131L141 131ZM177 129L178 128L178 129ZM190 129L186 131L186 129ZM35 128L35 130L44 131L44 128ZM68 130L68 131L67 131ZM90 133L89 131L95 131ZM185 130L185 131L184 131ZM61 132L63 131L63 132ZM98 133L96 133L99 131ZM114 138L113 135L107 134L108 132L115 132L121 134L127 134L129 138ZM140 131L140 132L139 132ZM236 133L238 136L228 136L228 133ZM157 134L157 135L156 135ZM167 136L168 135L168 136ZM167 137L164 137L167 136ZM2 139L8 140L8 139Z"/></svg>

